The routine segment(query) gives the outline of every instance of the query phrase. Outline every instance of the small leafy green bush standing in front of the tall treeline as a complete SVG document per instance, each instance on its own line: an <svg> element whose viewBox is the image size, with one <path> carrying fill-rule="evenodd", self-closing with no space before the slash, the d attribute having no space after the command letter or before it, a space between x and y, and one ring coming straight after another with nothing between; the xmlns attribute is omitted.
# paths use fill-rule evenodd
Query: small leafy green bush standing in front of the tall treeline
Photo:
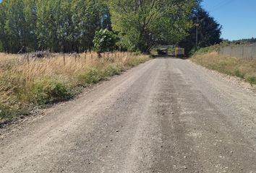
<svg viewBox="0 0 256 173"><path fill-rule="evenodd" d="M94 48L98 53L113 51L116 47L116 40L117 37L113 32L107 29L98 30L93 39Z"/></svg>

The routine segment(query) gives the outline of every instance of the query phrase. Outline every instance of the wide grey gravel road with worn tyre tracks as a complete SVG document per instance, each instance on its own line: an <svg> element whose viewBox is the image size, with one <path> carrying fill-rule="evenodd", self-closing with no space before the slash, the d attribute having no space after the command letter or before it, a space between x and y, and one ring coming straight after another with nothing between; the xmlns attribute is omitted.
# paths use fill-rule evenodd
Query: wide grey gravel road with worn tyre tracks
<svg viewBox="0 0 256 173"><path fill-rule="evenodd" d="M0 172L256 172L256 96L156 58L1 134Z"/></svg>

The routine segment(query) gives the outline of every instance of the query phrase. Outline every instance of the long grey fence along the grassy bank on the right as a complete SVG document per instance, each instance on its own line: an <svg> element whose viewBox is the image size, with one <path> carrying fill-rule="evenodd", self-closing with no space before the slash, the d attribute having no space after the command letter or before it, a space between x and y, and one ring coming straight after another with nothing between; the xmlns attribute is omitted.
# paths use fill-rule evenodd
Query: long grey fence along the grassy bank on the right
<svg viewBox="0 0 256 173"><path fill-rule="evenodd" d="M256 59L256 45L226 46L221 48L219 53L223 56Z"/></svg>

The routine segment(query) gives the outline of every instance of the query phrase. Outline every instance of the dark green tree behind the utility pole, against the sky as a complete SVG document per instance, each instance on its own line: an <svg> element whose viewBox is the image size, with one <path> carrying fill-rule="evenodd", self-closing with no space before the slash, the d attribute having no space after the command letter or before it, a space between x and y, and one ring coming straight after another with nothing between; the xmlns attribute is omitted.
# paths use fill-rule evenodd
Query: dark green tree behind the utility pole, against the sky
<svg viewBox="0 0 256 173"><path fill-rule="evenodd" d="M192 49L195 49L196 42L196 26L198 17L198 48L205 48L210 45L221 43L221 25L210 16L205 9L198 6L197 9L192 13L191 19L194 23L194 27L189 30L189 35L179 43L180 46L184 47L186 53L189 53Z"/></svg>

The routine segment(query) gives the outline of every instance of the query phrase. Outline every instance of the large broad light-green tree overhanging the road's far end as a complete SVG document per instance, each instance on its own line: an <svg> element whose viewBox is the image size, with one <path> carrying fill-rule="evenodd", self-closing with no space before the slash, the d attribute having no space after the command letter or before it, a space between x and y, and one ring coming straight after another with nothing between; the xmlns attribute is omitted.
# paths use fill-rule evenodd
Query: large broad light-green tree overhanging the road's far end
<svg viewBox="0 0 256 173"><path fill-rule="evenodd" d="M110 0L112 27L121 45L148 52L157 43L177 43L191 27L194 0Z"/></svg>

